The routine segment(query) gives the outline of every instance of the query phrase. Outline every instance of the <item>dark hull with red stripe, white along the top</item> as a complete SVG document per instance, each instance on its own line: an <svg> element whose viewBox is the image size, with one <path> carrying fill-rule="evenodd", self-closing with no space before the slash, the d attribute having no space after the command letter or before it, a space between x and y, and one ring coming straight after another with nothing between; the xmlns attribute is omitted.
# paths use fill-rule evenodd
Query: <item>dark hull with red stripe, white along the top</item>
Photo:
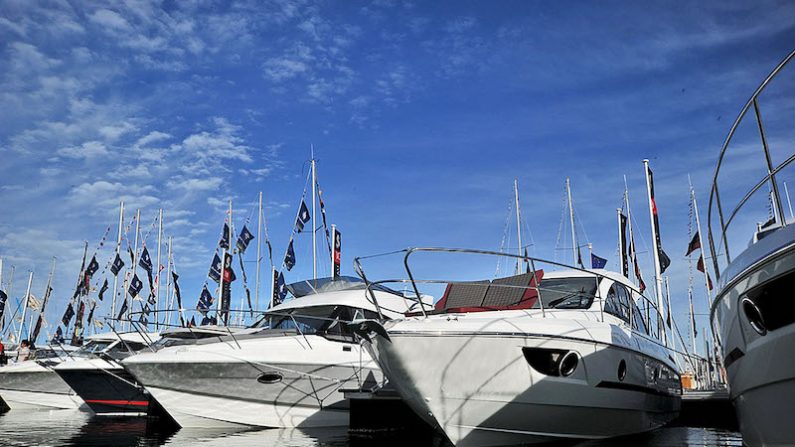
<svg viewBox="0 0 795 447"><path fill-rule="evenodd" d="M64 362L58 375L100 416L144 416L149 394L115 362L101 359Z"/></svg>

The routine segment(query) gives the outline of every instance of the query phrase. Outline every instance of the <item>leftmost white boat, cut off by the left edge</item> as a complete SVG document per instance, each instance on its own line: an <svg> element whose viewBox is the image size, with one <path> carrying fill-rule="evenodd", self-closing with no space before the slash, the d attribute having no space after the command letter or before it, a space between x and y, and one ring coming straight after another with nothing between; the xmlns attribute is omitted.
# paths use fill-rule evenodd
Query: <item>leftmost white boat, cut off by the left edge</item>
<svg viewBox="0 0 795 447"><path fill-rule="evenodd" d="M45 346L28 360L0 367L0 398L12 410L80 408L83 400L51 369L76 349Z"/></svg>

